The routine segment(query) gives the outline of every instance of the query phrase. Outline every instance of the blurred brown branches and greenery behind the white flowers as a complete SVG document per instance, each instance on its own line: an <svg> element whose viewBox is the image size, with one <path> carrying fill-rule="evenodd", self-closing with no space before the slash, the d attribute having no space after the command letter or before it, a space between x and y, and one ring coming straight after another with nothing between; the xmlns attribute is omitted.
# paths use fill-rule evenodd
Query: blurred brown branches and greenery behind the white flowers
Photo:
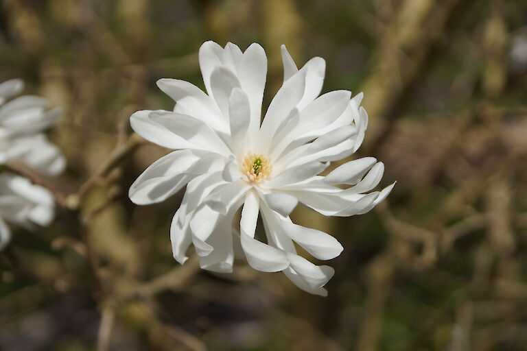
<svg viewBox="0 0 527 351"><path fill-rule="evenodd" d="M354 157L385 162L395 190L366 215L292 215L344 245L327 298L245 263L180 266L182 194L128 199L167 153L128 117L172 109L161 77L203 88L209 39L264 46L264 106L281 44L298 66L325 58L323 92L365 94ZM0 350L527 350L526 1L1 0L14 77L64 110L50 135L68 169L46 182L73 195L0 253Z"/></svg>

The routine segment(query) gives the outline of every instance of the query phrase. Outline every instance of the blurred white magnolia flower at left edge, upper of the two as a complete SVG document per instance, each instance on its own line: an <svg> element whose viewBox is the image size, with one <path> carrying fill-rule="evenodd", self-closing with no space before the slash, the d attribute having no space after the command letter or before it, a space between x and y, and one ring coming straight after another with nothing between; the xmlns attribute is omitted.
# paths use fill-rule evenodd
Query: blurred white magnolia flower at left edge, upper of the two
<svg viewBox="0 0 527 351"><path fill-rule="evenodd" d="M65 158L43 134L60 117L60 110L48 109L46 99L33 95L6 102L22 88L21 80L0 84L0 165L20 160L40 173L61 173L66 165Z"/></svg>

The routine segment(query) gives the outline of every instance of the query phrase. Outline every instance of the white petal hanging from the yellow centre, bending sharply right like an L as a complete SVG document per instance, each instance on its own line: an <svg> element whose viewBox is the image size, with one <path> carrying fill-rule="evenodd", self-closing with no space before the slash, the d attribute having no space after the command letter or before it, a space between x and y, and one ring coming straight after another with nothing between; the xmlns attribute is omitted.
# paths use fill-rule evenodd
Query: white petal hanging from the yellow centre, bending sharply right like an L
<svg viewBox="0 0 527 351"><path fill-rule="evenodd" d="M289 266L285 252L254 239L258 209L257 195L254 192L248 193L240 221L240 237L247 262L250 267L259 271L283 271Z"/></svg>

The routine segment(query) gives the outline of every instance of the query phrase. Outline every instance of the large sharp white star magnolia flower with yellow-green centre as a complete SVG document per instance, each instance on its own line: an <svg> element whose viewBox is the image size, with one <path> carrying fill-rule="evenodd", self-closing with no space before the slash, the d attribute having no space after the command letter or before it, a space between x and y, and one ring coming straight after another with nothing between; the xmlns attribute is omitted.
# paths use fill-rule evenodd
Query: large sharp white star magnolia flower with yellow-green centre
<svg viewBox="0 0 527 351"><path fill-rule="evenodd" d="M301 289L326 295L323 286L333 269L298 256L294 243L320 260L338 256L342 245L325 232L292 223L291 211L302 202L323 215L359 215L381 202L393 184L367 193L384 171L372 157L319 175L362 143L368 123L362 94L351 99L349 91L337 90L319 97L325 61L313 58L297 69L284 46L282 58L283 86L261 125L267 58L260 45L242 52L232 43L204 43L199 60L208 95L182 80L159 80L159 88L176 101L174 111L135 112L130 123L143 138L177 151L139 175L130 199L161 202L186 184L170 228L179 263L192 243L204 269L230 272L241 254L254 269L283 271ZM337 184L352 186L342 190ZM233 219L242 205L238 231ZM259 214L266 243L255 237Z"/></svg>

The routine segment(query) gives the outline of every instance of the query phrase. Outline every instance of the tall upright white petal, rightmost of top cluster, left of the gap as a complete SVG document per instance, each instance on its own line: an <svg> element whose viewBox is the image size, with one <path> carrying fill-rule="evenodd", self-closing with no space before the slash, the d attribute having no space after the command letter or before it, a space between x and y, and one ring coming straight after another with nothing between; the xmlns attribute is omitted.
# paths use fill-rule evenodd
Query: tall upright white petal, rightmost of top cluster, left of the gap
<svg viewBox="0 0 527 351"><path fill-rule="evenodd" d="M266 87L267 57L260 45L253 43L239 62L238 77L250 102L250 135L256 136L260 127L261 101Z"/></svg>

